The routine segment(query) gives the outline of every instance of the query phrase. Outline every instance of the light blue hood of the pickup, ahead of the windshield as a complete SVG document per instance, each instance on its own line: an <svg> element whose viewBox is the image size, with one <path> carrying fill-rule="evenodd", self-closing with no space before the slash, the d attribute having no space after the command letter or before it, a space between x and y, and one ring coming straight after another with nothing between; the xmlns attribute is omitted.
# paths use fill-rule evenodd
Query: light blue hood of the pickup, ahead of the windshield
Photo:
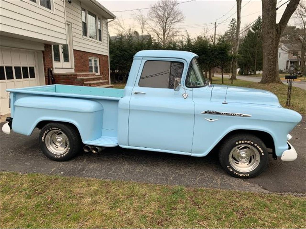
<svg viewBox="0 0 306 229"><path fill-rule="evenodd" d="M211 101L281 106L277 96L269 91L227 85L214 85Z"/></svg>

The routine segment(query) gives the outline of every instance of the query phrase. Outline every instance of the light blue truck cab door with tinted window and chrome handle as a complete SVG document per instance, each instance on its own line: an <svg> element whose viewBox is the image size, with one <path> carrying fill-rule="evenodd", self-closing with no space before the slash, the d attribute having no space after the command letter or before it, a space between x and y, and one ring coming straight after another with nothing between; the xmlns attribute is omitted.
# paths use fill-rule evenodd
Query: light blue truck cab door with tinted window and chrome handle
<svg viewBox="0 0 306 229"><path fill-rule="evenodd" d="M173 89L174 79L186 75L187 68L181 59L143 58L129 106L129 146L191 153L192 89L186 99L184 89Z"/></svg>

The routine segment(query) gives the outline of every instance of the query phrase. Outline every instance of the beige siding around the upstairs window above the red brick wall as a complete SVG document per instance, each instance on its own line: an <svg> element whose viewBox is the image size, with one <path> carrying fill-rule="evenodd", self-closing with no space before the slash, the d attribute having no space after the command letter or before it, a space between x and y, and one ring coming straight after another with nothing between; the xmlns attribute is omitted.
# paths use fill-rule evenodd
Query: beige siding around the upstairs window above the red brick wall
<svg viewBox="0 0 306 229"><path fill-rule="evenodd" d="M102 19L102 42L98 40L93 40L88 37L83 37L82 34L82 18L81 18L81 3L80 1L72 1L71 4L65 2L66 8L66 20L72 23L72 40L73 49L97 53L102 55L108 55L108 45L107 45L107 24L106 19L99 15L97 12L93 11L99 18Z"/></svg>

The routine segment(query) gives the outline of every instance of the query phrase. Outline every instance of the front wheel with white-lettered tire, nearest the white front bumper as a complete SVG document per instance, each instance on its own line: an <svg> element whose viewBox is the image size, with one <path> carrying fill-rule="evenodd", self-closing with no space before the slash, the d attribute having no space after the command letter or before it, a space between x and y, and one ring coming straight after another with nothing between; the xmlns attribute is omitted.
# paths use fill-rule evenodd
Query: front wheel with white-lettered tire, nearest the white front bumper
<svg viewBox="0 0 306 229"><path fill-rule="evenodd" d="M220 147L219 161L231 176L255 177L267 166L267 147L262 140L251 134L230 136Z"/></svg>

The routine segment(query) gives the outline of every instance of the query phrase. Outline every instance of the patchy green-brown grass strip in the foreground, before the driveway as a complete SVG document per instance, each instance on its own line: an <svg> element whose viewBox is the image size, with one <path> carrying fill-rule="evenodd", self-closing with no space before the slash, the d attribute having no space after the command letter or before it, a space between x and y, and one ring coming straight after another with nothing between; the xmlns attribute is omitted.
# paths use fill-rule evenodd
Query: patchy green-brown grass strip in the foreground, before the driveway
<svg viewBox="0 0 306 229"><path fill-rule="evenodd" d="M1 228L305 228L305 197L1 174Z"/></svg>

